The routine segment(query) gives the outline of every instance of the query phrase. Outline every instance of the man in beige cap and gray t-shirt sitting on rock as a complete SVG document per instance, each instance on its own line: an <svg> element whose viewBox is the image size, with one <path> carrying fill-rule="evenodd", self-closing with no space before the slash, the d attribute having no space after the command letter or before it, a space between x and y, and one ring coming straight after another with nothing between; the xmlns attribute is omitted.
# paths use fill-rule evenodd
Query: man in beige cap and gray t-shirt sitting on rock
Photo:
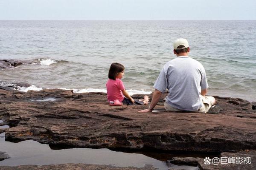
<svg viewBox="0 0 256 170"><path fill-rule="evenodd" d="M166 111L207 113L215 105L215 98L205 96L208 83L203 65L188 56L190 49L186 39L177 39L173 48L177 58L163 66L154 84L149 108L139 112L152 112L167 88L169 94L164 99Z"/></svg>

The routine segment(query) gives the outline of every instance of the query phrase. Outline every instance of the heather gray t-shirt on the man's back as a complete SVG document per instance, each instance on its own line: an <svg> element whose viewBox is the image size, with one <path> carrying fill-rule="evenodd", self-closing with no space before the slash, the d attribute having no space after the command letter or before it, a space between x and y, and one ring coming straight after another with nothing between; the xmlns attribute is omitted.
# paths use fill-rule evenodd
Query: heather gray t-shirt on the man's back
<svg viewBox="0 0 256 170"><path fill-rule="evenodd" d="M195 59L180 56L167 62L160 72L154 88L169 94L167 104L184 111L198 111L203 106L201 89L208 83L204 66Z"/></svg>

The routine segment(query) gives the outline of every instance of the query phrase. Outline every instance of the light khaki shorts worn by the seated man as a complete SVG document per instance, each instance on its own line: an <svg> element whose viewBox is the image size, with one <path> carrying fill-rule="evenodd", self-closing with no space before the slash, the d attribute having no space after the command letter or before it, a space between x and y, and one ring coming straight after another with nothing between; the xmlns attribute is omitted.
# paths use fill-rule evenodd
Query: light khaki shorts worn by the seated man
<svg viewBox="0 0 256 170"><path fill-rule="evenodd" d="M214 97L212 96L202 96L200 95L203 101L203 106L197 111L197 113L207 113L209 108L212 107L212 105L215 102ZM164 108L166 109L166 111L170 111L170 112L184 112L183 110L174 108L170 105L167 104L166 100L164 99ZM187 112L187 111L186 111Z"/></svg>

